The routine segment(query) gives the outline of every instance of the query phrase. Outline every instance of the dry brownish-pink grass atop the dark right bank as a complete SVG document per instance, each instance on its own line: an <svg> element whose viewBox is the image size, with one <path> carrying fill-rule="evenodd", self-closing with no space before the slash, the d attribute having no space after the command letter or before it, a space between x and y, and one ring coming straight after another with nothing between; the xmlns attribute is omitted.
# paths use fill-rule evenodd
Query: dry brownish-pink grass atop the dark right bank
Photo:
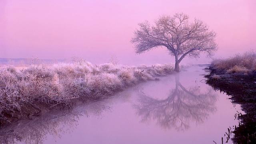
<svg viewBox="0 0 256 144"><path fill-rule="evenodd" d="M256 52L236 54L230 58L214 60L212 66L227 73L249 73L256 70Z"/></svg>

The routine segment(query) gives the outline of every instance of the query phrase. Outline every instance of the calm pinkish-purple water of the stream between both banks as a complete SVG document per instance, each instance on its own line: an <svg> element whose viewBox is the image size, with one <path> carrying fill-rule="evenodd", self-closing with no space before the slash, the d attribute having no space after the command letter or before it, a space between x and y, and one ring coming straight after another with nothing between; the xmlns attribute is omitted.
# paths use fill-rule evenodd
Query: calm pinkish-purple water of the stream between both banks
<svg viewBox="0 0 256 144"><path fill-rule="evenodd" d="M204 83L203 68L185 68L71 111L20 121L0 134L18 144L221 144L222 137L225 143L225 132L238 125L234 115L242 110Z"/></svg>

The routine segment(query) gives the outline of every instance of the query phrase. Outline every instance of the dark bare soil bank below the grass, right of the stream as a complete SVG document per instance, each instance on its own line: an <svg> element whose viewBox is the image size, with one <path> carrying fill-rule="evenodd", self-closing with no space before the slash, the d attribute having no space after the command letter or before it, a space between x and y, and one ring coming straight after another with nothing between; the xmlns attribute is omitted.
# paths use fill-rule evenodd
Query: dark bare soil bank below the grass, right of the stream
<svg viewBox="0 0 256 144"><path fill-rule="evenodd" d="M234 128L233 142L236 144L256 144L256 72L250 74L231 73L210 66L206 83L220 92L231 96L235 104L241 104L246 114L238 113L235 118L240 124Z"/></svg>

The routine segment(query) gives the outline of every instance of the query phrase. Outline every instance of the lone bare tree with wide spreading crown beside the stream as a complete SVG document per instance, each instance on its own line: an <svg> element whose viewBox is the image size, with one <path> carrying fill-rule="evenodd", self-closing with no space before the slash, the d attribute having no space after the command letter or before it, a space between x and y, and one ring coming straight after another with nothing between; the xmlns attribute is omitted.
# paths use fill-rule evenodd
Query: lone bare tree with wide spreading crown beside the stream
<svg viewBox="0 0 256 144"><path fill-rule="evenodd" d="M161 16L151 26L148 21L138 24L140 28L134 32L131 42L136 53L156 47L166 47L175 57L175 71L186 56L196 58L201 52L211 56L217 50L216 33L209 30L201 20L190 22L187 14L177 13L174 16Z"/></svg>

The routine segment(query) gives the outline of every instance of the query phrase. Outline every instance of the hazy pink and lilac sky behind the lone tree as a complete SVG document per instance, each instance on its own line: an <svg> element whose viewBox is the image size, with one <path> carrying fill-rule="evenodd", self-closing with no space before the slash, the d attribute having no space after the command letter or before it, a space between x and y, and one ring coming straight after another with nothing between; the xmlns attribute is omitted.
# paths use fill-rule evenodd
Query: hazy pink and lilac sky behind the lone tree
<svg viewBox="0 0 256 144"><path fill-rule="evenodd" d="M69 59L121 64L174 62L165 48L135 54L139 22L184 12L217 33L224 58L256 48L255 0L0 0L0 58ZM186 58L186 63L210 59Z"/></svg>

